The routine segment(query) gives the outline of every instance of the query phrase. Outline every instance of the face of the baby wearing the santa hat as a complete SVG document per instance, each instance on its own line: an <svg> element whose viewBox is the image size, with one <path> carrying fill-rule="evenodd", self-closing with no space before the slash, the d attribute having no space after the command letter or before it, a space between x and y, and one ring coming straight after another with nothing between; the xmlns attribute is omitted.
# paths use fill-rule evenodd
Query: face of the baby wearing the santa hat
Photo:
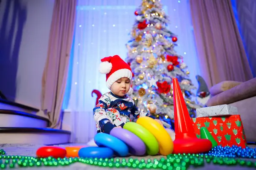
<svg viewBox="0 0 256 170"><path fill-rule="evenodd" d="M110 90L117 96L124 96L127 94L131 86L131 81L127 77L116 80L116 82L111 85Z"/></svg>

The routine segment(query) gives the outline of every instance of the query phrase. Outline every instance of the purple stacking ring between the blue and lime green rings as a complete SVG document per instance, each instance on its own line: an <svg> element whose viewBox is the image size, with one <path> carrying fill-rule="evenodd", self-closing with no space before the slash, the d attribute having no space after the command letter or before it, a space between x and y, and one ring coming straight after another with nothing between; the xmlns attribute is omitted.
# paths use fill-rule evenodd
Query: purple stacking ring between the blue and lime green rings
<svg viewBox="0 0 256 170"><path fill-rule="evenodd" d="M115 136L128 146L129 152L133 155L142 156L146 153L146 146L144 142L134 133L123 129L113 128L110 135Z"/></svg>

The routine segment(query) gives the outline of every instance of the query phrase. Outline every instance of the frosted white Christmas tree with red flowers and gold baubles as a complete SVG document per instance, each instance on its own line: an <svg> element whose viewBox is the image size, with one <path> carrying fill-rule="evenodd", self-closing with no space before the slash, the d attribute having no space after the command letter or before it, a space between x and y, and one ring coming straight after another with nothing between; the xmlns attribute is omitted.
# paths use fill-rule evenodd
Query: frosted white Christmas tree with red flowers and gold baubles
<svg viewBox="0 0 256 170"><path fill-rule="evenodd" d="M160 0L143 0L134 12L136 21L127 43L126 62L131 66L133 79L130 96L138 108L157 116L166 127L173 123L174 107L172 77L176 77L191 117L195 104L187 65L174 50L177 37L167 28L168 17Z"/></svg>

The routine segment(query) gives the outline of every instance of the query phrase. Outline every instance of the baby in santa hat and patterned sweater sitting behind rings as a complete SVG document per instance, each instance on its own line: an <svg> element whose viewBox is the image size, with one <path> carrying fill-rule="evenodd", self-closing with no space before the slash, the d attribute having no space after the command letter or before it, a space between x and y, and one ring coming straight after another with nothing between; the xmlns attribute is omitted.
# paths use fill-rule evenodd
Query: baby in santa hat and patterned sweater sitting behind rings
<svg viewBox="0 0 256 170"><path fill-rule="evenodd" d="M130 66L118 55L101 59L99 71L106 74L106 85L111 90L102 95L98 105L93 108L97 133L110 133L113 128L122 128L127 122L136 122L140 116L154 116L137 108L133 99L127 95L131 87Z"/></svg>

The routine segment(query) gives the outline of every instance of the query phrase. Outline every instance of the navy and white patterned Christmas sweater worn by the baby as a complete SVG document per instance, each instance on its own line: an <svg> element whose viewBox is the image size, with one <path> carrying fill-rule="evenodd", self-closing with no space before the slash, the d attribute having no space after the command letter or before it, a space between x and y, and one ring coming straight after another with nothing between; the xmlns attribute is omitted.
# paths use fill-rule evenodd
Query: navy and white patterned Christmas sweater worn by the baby
<svg viewBox="0 0 256 170"><path fill-rule="evenodd" d="M125 96L120 97L116 96L112 92L108 92L101 96L98 105L93 108L93 117L96 121L97 133L110 133L110 131L116 127L116 125L112 124L116 117L113 117L113 119L110 120L106 114L106 110L109 110L110 108L116 109L119 111L120 116L126 116L133 122L135 122L140 116L149 116L156 119L154 116L141 111L140 108L137 108L133 99L128 95L125 94ZM119 119L119 121L121 121L120 126L123 127L125 122L122 122L121 119Z"/></svg>

